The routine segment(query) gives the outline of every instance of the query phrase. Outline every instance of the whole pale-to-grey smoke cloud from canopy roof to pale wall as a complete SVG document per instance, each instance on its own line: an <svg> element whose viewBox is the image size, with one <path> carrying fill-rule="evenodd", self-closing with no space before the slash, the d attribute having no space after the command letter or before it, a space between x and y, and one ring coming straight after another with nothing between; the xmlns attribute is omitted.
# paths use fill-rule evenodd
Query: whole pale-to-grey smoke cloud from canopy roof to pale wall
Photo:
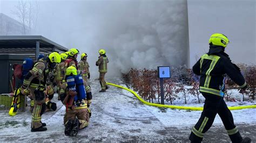
<svg viewBox="0 0 256 143"><path fill-rule="evenodd" d="M86 52L95 74L100 48L110 60L109 76L189 62L185 0L43 1L39 6L35 34Z"/></svg>

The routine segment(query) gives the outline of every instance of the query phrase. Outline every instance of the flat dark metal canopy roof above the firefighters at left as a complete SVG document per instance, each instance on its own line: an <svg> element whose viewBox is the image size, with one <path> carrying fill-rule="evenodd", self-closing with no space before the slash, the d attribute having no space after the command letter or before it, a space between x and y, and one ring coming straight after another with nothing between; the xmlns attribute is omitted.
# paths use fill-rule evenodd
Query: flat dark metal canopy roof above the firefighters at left
<svg viewBox="0 0 256 143"><path fill-rule="evenodd" d="M36 59L39 53L68 51L56 42L41 35L0 35L0 54L21 54Z"/></svg>

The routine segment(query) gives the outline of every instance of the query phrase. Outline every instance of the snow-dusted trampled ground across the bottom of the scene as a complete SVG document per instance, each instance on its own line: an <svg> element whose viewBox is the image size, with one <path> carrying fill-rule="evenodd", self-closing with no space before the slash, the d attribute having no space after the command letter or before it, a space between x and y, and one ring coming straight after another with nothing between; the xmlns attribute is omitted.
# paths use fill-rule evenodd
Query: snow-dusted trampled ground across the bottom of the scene
<svg viewBox="0 0 256 143"><path fill-rule="evenodd" d="M112 82L125 87L122 80L109 78ZM93 101L90 125L78 132L77 137L64 134L63 116L65 107L57 101L57 111L46 112L42 121L48 131L30 132L31 113L18 113L10 117L0 113L0 142L3 141L189 141L188 136L198 121L201 111L159 109L138 101L129 91L110 87L107 92L98 92L98 80L91 80ZM240 103L240 102L239 102ZM236 103L234 103L236 104ZM251 104L243 102L243 104ZM181 105L181 104L180 104ZM202 106L203 104L192 104ZM232 105L228 103L228 105ZM256 141L256 109L231 111L234 122L241 135ZM217 115L213 127L206 133L204 141L230 141L225 128Z"/></svg>

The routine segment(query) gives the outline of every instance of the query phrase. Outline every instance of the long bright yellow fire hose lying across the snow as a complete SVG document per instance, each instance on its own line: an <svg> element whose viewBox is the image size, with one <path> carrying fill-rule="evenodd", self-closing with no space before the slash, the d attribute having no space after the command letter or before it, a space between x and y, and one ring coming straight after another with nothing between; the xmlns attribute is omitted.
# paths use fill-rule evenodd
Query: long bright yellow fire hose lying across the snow
<svg viewBox="0 0 256 143"><path fill-rule="evenodd" d="M183 110L194 110L194 111L203 111L203 107L190 107L190 106L176 106L176 105L163 105L163 104L156 104L156 103L149 103L144 101L142 98L140 98L136 92L134 92L133 90L129 89L129 88L125 88L122 87L120 85L117 84L113 84L113 83L109 83L107 82L106 84L108 85L112 85L114 87L118 87L118 88L122 88L125 89L127 91L130 91L133 95L135 95L140 102L146 104L146 105L150 105L150 106L156 106L159 108L171 108L171 109L183 109ZM256 108L256 105L247 105L247 106L232 106L232 107L228 107L228 109L230 110L240 110L240 109L249 109L249 108Z"/></svg>

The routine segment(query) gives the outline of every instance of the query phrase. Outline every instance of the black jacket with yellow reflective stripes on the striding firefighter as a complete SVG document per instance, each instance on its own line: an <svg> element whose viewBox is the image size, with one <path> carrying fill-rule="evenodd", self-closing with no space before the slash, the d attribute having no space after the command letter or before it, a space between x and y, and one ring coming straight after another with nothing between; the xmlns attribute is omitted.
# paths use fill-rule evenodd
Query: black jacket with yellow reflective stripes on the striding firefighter
<svg viewBox="0 0 256 143"><path fill-rule="evenodd" d="M199 91L223 97L226 74L240 88L246 86L239 67L231 62L221 46L210 46L207 54L201 56L193 66L193 72L200 75Z"/></svg>

